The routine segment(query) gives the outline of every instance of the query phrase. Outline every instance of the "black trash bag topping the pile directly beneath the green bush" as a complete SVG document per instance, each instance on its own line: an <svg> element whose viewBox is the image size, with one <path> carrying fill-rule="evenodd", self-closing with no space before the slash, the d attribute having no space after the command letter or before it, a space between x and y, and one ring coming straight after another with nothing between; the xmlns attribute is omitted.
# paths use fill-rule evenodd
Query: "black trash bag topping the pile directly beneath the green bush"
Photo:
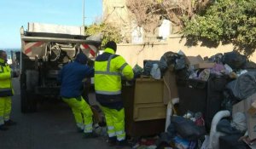
<svg viewBox="0 0 256 149"><path fill-rule="evenodd" d="M232 69L242 69L247 63L247 56L239 54L237 51L224 53L224 64L228 64Z"/></svg>

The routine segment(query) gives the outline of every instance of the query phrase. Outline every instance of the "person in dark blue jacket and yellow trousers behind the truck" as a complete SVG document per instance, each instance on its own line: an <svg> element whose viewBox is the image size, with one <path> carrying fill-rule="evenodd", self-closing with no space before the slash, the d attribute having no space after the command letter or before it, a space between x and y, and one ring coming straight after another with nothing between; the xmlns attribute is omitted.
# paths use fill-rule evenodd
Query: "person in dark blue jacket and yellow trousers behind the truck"
<svg viewBox="0 0 256 149"><path fill-rule="evenodd" d="M79 53L73 62L63 66L60 72L61 98L71 107L79 132L84 138L96 137L92 131L92 112L89 103L82 97L83 79L93 77L94 69L87 66L87 56Z"/></svg>

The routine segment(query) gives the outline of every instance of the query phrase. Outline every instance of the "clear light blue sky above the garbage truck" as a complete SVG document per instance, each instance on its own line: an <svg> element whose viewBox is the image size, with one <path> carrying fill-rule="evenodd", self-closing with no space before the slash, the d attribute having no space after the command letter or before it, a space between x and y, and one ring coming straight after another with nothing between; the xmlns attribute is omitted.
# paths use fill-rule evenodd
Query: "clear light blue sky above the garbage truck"
<svg viewBox="0 0 256 149"><path fill-rule="evenodd" d="M20 49L28 22L82 26L83 0L0 0L0 49ZM84 0L85 25L102 16L102 0Z"/></svg>

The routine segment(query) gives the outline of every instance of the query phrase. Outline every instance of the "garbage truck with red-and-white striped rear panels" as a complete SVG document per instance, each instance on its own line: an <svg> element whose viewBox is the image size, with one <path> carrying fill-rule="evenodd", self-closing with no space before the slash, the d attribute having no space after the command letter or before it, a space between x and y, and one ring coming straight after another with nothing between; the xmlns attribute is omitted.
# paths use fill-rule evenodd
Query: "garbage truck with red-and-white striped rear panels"
<svg viewBox="0 0 256 149"><path fill-rule="evenodd" d="M81 52L93 60L101 46L101 39L84 35L83 26L28 23L20 38L21 112L36 112L39 100L58 98L62 66Z"/></svg>

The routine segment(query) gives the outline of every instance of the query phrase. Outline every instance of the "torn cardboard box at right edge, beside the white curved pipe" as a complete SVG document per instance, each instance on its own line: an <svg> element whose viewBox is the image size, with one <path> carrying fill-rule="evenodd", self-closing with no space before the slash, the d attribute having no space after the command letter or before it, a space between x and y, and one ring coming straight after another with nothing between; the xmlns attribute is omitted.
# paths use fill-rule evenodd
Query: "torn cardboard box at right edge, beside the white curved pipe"
<svg viewBox="0 0 256 149"><path fill-rule="evenodd" d="M232 113L244 112L247 117L247 131L250 140L256 139L256 117L250 115L247 111L252 106L252 103L256 101L256 94L251 95L246 100L241 100L233 106Z"/></svg>

